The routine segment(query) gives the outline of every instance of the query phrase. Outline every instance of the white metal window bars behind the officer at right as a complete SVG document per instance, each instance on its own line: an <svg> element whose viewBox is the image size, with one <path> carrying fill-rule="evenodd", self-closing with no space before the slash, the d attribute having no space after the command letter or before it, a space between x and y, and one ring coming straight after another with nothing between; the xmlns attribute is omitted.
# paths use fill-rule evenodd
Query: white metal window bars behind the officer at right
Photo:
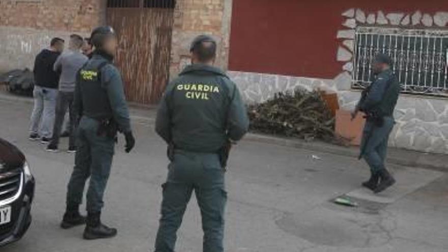
<svg viewBox="0 0 448 252"><path fill-rule="evenodd" d="M403 92L448 97L448 30L357 27L353 88L370 85L379 52L390 55Z"/></svg>

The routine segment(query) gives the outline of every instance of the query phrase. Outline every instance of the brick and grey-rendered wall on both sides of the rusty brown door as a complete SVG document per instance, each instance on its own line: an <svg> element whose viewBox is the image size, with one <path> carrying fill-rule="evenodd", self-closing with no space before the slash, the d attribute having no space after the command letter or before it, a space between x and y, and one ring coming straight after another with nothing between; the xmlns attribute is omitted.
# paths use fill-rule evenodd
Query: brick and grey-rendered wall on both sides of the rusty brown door
<svg viewBox="0 0 448 252"><path fill-rule="evenodd" d="M0 1L0 72L31 67L53 36L88 35L105 23L105 0ZM200 34L218 42L216 65L227 69L232 0L178 0L171 48L171 77L190 62L189 44Z"/></svg>

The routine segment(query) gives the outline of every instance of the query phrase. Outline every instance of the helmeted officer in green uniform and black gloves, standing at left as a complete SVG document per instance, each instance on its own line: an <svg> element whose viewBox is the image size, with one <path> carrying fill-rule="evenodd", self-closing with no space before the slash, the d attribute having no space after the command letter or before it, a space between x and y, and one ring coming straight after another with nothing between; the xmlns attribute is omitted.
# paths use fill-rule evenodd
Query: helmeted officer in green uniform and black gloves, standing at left
<svg viewBox="0 0 448 252"><path fill-rule="evenodd" d="M74 109L79 116L77 151L67 186L67 209L61 227L68 229L87 222L83 238L98 239L117 234L116 229L108 228L100 220L117 131L125 135L126 152L133 148L135 140L122 79L113 65L117 49L115 32L109 26L98 27L92 32L91 38L95 46L94 55L79 70L75 87ZM79 205L89 177L86 221L79 213Z"/></svg>

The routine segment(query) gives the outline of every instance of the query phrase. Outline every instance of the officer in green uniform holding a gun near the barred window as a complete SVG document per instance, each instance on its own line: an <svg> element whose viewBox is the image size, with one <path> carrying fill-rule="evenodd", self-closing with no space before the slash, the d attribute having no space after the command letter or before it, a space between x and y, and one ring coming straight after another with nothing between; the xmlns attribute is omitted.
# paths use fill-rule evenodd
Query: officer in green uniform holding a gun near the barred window
<svg viewBox="0 0 448 252"><path fill-rule="evenodd" d="M370 166L371 177L363 182L375 193L381 192L396 181L387 171L384 160L389 134L394 128L394 109L400 94L400 85L391 69L387 54L379 53L373 61L376 74L372 84L363 91L352 118L358 111L366 114L367 122L363 130L359 158L364 158Z"/></svg>

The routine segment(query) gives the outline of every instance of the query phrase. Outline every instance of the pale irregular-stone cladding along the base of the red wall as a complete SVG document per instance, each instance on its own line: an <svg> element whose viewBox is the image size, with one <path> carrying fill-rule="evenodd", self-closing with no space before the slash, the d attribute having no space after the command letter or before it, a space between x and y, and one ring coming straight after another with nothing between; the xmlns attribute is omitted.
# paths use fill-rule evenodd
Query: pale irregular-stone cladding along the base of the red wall
<svg viewBox="0 0 448 252"><path fill-rule="evenodd" d="M359 91L350 90L351 78L342 73L334 79L283 76L230 71L246 103L264 102L278 92L297 88L338 94L341 109L354 109ZM389 146L448 154L448 102L444 98L401 95L395 110L397 121Z"/></svg>

